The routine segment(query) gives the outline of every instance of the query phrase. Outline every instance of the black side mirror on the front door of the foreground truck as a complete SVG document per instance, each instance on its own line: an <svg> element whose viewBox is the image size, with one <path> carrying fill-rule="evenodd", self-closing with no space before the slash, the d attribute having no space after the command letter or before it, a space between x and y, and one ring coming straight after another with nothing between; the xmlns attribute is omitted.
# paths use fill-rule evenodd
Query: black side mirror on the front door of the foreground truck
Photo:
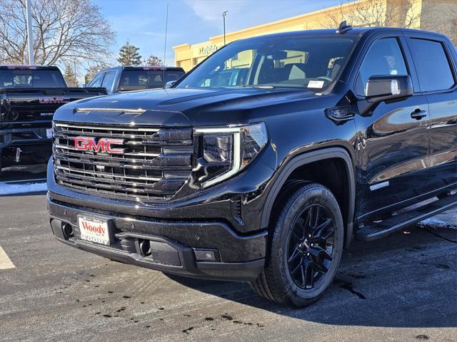
<svg viewBox="0 0 457 342"><path fill-rule="evenodd" d="M366 83L366 100L371 103L408 98L414 93L408 75L371 76Z"/></svg>

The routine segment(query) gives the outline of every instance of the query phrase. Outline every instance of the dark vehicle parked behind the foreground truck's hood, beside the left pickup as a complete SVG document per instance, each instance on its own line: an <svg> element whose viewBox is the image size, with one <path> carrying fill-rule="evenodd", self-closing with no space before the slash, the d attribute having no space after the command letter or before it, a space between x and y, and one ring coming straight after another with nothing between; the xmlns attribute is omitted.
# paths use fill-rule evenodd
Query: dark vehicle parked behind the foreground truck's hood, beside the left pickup
<svg viewBox="0 0 457 342"><path fill-rule="evenodd" d="M103 87L109 94L129 90L165 88L166 83L178 81L183 68L162 66L116 66L94 76L89 87Z"/></svg>

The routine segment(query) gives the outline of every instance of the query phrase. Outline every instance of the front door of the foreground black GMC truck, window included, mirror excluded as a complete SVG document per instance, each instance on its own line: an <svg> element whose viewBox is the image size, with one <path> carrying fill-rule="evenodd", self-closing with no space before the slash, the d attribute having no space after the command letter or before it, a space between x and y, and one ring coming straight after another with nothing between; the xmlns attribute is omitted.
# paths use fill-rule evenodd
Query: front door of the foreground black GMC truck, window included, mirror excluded
<svg viewBox="0 0 457 342"><path fill-rule="evenodd" d="M414 66L404 39L378 38L371 43L355 82L359 113L358 129L358 213L381 212L421 195L428 180L428 103L418 89ZM376 75L406 75L413 79L410 98L370 104L364 98L366 81ZM412 117L422 111L423 118Z"/></svg>

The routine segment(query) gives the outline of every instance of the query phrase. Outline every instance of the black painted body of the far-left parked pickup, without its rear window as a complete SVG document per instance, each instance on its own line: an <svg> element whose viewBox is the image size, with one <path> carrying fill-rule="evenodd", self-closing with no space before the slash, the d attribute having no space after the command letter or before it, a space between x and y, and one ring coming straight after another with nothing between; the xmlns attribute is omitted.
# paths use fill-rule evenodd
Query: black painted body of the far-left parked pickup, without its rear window
<svg viewBox="0 0 457 342"><path fill-rule="evenodd" d="M0 74L8 68L0 66ZM29 67L14 68L27 70ZM56 66L34 66L32 69L60 73ZM104 93L103 88L0 88L0 180L1 167L27 165L33 174L30 169L49 160L52 138L47 138L46 129L51 128L57 108ZM50 101L44 103L44 100ZM19 161L16 160L17 149L20 149Z"/></svg>

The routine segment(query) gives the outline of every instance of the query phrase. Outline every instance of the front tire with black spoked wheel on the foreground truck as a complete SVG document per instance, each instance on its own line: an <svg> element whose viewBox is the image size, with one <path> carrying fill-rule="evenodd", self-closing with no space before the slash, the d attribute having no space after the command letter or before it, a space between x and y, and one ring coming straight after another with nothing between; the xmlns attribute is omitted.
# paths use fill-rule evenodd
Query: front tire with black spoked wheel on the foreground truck
<svg viewBox="0 0 457 342"><path fill-rule="evenodd" d="M333 281L343 252L341 210L330 190L317 183L290 187L277 201L266 266L252 288L278 304L307 306ZM280 195L281 196L281 195Z"/></svg>

